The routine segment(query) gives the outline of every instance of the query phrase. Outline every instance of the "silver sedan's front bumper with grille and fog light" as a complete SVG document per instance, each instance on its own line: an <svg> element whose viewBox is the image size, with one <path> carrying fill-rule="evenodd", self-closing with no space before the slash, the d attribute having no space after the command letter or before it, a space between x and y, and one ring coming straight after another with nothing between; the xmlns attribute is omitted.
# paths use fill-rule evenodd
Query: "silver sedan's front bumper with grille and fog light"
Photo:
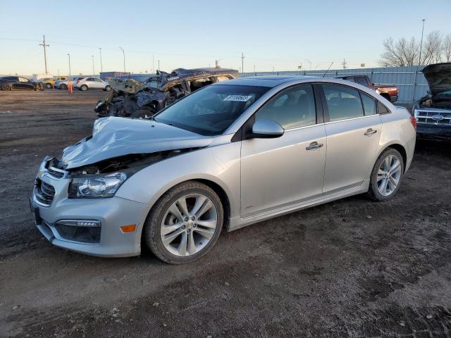
<svg viewBox="0 0 451 338"><path fill-rule="evenodd" d="M60 178L47 165L48 159L39 167L30 207L38 230L51 244L92 256L140 254L147 204L116 196L68 199L70 179ZM135 225L135 231L123 232L124 225Z"/></svg>

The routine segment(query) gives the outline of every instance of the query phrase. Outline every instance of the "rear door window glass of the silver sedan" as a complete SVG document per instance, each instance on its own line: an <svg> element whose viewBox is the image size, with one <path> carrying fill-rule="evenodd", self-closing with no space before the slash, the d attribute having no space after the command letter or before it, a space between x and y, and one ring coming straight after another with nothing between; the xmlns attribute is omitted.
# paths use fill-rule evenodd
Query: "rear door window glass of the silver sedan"
<svg viewBox="0 0 451 338"><path fill-rule="evenodd" d="M364 115L359 92L335 84L323 84L330 121L359 118Z"/></svg>

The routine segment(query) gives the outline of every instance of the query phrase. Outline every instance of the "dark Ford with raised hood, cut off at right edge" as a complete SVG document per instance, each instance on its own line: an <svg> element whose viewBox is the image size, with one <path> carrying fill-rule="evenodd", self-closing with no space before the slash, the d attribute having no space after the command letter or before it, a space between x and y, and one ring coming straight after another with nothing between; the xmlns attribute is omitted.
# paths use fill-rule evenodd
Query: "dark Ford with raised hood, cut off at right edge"
<svg viewBox="0 0 451 338"><path fill-rule="evenodd" d="M429 92L416 101L414 116L421 138L451 141L451 63L427 65L421 73L429 85Z"/></svg>

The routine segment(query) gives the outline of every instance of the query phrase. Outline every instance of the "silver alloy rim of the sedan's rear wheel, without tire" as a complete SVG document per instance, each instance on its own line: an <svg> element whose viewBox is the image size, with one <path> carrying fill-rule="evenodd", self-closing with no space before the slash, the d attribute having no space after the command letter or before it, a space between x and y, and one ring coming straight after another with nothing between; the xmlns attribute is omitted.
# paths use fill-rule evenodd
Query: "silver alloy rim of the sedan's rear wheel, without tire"
<svg viewBox="0 0 451 338"><path fill-rule="evenodd" d="M378 169L378 192L383 196L390 196L395 192L402 175L401 161L397 156L388 155Z"/></svg>

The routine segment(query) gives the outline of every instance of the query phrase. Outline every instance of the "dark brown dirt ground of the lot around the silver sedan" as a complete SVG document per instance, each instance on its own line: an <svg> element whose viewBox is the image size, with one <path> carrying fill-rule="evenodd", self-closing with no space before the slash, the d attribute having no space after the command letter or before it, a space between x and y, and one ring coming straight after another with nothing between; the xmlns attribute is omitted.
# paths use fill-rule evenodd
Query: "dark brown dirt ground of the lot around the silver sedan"
<svg viewBox="0 0 451 338"><path fill-rule="evenodd" d="M51 246L27 198L102 95L0 92L1 337L451 337L450 144L419 142L387 203L223 232L190 265L92 258Z"/></svg>

